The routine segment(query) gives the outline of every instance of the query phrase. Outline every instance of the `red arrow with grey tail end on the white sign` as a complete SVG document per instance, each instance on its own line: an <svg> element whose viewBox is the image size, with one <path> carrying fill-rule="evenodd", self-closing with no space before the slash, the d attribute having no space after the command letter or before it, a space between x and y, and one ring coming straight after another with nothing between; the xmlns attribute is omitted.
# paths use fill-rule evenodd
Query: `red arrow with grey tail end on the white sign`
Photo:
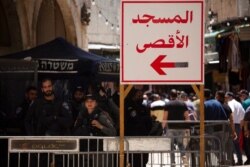
<svg viewBox="0 0 250 167"><path fill-rule="evenodd" d="M187 68L188 62L162 62L167 55L159 55L152 63L151 67L160 75L166 75L162 68Z"/></svg>

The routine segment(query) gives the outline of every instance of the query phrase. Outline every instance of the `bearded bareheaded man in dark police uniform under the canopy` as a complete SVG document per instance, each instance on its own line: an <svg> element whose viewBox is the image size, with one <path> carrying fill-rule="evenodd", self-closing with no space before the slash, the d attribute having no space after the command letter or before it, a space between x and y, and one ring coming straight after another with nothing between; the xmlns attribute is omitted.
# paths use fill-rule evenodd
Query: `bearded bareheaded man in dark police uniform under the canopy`
<svg viewBox="0 0 250 167"><path fill-rule="evenodd" d="M73 121L68 104L55 97L50 79L42 80L41 90L43 97L31 104L26 116L28 135L69 135Z"/></svg>

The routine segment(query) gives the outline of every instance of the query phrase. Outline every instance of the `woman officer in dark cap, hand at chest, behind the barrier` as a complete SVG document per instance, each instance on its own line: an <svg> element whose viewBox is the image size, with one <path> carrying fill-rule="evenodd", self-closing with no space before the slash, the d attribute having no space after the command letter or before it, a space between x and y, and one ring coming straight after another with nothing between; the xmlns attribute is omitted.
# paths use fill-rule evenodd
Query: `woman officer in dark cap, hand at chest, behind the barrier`
<svg viewBox="0 0 250 167"><path fill-rule="evenodd" d="M82 110L75 123L75 133L78 136L115 136L116 129L112 118L108 112L101 109L98 105L97 96L93 94L86 95L84 101L85 110ZM103 151L102 139L87 139L80 140L80 151L99 152L99 154L93 154L87 157L81 157L80 162L84 162L84 165L80 166L92 166L92 167L110 167L112 163L112 157L107 153L101 153ZM104 157L104 158L102 158ZM94 161L93 161L94 160ZM108 160L108 161L107 161ZM106 162L107 161L107 162Z"/></svg>

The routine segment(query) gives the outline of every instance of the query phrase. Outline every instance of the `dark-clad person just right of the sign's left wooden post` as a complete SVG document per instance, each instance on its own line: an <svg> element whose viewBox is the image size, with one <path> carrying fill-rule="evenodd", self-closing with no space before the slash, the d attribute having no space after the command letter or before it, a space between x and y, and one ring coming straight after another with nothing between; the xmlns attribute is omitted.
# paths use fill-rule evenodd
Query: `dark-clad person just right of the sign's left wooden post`
<svg viewBox="0 0 250 167"><path fill-rule="evenodd" d="M132 89L125 99L125 136L148 136L152 128L150 111L142 104L143 91ZM131 166L145 167L148 154L133 154L129 157Z"/></svg>

